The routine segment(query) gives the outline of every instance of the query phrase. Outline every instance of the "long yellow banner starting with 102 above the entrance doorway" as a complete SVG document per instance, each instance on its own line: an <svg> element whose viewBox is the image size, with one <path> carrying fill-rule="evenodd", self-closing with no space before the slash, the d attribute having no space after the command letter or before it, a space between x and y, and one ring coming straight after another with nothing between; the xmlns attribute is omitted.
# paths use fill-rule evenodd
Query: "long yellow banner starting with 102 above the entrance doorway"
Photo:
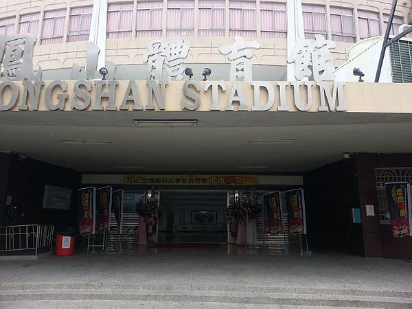
<svg viewBox="0 0 412 309"><path fill-rule="evenodd" d="M249 175L123 175L124 185L259 185L259 176Z"/></svg>

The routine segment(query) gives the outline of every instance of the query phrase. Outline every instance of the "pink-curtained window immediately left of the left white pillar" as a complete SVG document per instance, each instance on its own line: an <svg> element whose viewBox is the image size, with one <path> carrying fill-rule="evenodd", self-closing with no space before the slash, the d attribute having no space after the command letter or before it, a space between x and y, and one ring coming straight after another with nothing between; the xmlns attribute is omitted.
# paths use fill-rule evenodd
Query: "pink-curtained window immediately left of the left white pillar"
<svg viewBox="0 0 412 309"><path fill-rule="evenodd" d="M73 42L89 40L92 12L92 6L71 9L67 41Z"/></svg>

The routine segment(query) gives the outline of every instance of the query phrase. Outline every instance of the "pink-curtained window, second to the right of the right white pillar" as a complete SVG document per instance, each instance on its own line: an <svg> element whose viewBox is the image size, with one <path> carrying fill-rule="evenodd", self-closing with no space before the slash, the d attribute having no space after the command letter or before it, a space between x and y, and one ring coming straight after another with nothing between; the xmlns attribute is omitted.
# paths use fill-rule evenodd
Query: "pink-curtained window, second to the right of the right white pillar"
<svg viewBox="0 0 412 309"><path fill-rule="evenodd" d="M354 11L351 8L330 8L332 40L355 43Z"/></svg>

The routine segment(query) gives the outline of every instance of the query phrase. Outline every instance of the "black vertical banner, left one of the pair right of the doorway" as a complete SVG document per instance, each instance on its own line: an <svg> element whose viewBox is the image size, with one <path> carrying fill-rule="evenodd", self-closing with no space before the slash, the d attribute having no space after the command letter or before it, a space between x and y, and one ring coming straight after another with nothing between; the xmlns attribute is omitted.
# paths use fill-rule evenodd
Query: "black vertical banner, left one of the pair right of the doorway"
<svg viewBox="0 0 412 309"><path fill-rule="evenodd" d="M279 192L264 196L264 231L271 235L283 233Z"/></svg>

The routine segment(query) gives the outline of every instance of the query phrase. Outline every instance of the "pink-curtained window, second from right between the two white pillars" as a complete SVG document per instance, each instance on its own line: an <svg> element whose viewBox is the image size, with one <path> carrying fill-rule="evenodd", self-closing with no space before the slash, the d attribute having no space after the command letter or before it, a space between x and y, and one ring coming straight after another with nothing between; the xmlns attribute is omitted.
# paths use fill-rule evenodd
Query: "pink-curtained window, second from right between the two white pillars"
<svg viewBox="0 0 412 309"><path fill-rule="evenodd" d="M229 1L229 36L256 36L256 2Z"/></svg>

